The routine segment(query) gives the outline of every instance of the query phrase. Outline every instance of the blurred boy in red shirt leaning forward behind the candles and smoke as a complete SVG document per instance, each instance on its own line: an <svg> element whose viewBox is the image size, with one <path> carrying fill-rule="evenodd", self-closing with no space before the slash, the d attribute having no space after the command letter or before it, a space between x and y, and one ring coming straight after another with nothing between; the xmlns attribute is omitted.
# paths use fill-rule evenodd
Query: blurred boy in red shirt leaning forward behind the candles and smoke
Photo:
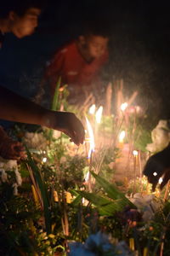
<svg viewBox="0 0 170 256"><path fill-rule="evenodd" d="M107 35L91 28L85 35L58 49L45 71L52 96L59 77L62 84L68 84L74 99L93 90L93 84L99 86L99 74L109 56L108 41Z"/></svg>

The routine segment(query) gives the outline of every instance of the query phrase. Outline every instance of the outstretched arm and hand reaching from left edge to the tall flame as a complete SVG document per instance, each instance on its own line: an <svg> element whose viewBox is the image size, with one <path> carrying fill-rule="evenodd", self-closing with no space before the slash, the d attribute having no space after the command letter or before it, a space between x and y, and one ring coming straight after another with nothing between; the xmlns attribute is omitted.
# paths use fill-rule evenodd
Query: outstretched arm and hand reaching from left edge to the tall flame
<svg viewBox="0 0 170 256"><path fill-rule="evenodd" d="M65 132L77 145L84 140L84 128L74 113L42 108L3 86L0 86L0 119L43 125Z"/></svg>

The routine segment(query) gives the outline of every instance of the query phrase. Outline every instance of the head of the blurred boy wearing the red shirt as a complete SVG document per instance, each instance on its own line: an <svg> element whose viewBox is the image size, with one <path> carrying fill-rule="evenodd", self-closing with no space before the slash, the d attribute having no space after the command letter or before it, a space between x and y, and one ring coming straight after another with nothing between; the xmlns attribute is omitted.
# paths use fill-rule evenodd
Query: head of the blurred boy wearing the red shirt
<svg viewBox="0 0 170 256"><path fill-rule="evenodd" d="M88 28L82 36L79 37L79 42L91 58L99 58L107 49L109 36L105 30L99 29L98 26Z"/></svg>

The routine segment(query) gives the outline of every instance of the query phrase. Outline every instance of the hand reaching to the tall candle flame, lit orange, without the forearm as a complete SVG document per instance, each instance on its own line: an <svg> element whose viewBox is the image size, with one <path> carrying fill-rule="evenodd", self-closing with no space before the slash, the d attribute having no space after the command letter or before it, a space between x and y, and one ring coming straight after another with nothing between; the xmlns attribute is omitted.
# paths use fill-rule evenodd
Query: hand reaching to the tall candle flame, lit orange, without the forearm
<svg viewBox="0 0 170 256"><path fill-rule="evenodd" d="M84 141L84 127L74 113L50 111L46 119L46 126L64 132L77 146Z"/></svg>

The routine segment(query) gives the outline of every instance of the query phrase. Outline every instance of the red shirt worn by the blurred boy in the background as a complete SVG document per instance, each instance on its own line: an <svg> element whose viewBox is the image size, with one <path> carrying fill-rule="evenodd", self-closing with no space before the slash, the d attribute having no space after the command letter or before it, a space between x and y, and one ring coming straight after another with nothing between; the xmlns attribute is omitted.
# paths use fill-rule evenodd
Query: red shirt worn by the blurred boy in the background
<svg viewBox="0 0 170 256"><path fill-rule="evenodd" d="M101 67L108 60L108 52L88 63L77 49L76 42L71 42L59 49L50 61L46 75L53 80L55 86L59 76L62 84L72 84L77 86L88 86L98 79ZM54 90L54 88L52 88Z"/></svg>

